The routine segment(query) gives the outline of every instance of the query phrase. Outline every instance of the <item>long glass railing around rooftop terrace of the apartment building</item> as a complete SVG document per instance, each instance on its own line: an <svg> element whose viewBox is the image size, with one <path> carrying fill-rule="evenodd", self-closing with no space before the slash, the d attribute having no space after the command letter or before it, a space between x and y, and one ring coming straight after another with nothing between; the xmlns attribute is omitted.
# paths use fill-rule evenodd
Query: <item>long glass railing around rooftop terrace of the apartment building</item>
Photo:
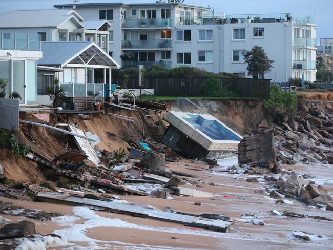
<svg viewBox="0 0 333 250"><path fill-rule="evenodd" d="M244 14L244 15L203 15L200 17L176 17L175 25L221 25L221 24L244 24L244 23L283 23L315 24L312 16L297 14Z"/></svg>

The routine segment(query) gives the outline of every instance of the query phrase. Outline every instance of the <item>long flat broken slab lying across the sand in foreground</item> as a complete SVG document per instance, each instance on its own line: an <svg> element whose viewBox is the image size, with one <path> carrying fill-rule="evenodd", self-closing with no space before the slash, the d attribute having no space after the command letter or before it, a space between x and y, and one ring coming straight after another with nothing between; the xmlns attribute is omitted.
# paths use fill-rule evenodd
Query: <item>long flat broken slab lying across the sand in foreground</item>
<svg viewBox="0 0 333 250"><path fill-rule="evenodd" d="M220 219L203 218L201 216L179 214L177 212L164 212L158 209L148 209L133 205L124 205L114 202L79 198L65 194L40 193L37 196L39 201L52 202L66 205L91 205L101 207L107 211L117 214L126 214L135 217L150 218L161 221L174 222L186 226L204 228L207 230L228 233L234 230L234 223Z"/></svg>

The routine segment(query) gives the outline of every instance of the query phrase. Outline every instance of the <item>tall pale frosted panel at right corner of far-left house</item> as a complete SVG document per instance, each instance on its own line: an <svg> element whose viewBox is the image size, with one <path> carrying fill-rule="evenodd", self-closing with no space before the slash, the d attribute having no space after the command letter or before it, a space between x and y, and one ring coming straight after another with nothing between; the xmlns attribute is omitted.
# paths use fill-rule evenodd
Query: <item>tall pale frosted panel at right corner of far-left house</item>
<svg viewBox="0 0 333 250"><path fill-rule="evenodd" d="M37 103L37 61L27 60L27 104L35 103Z"/></svg>

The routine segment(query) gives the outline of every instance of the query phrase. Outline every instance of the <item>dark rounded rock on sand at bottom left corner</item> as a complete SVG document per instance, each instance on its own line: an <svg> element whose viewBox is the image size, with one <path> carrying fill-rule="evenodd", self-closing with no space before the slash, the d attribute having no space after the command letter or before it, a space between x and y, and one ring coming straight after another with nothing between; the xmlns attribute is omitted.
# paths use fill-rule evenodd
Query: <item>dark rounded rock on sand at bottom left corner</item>
<svg viewBox="0 0 333 250"><path fill-rule="evenodd" d="M8 239L11 239L10 236L24 235L26 237L33 234L36 234L35 224L28 220L10 223L0 228L0 235L8 236Z"/></svg>

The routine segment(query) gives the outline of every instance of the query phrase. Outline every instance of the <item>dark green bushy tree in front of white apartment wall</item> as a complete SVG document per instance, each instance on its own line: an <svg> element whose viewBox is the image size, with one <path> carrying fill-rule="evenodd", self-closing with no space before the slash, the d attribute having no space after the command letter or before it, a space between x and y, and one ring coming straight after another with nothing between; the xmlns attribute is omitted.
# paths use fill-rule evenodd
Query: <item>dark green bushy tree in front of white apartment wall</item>
<svg viewBox="0 0 333 250"><path fill-rule="evenodd" d="M243 52L243 57L247 64L247 75L252 75L254 79L258 79L259 75L264 79L265 73L270 72L270 68L273 67L274 60L270 60L260 46L255 46L252 50Z"/></svg>

